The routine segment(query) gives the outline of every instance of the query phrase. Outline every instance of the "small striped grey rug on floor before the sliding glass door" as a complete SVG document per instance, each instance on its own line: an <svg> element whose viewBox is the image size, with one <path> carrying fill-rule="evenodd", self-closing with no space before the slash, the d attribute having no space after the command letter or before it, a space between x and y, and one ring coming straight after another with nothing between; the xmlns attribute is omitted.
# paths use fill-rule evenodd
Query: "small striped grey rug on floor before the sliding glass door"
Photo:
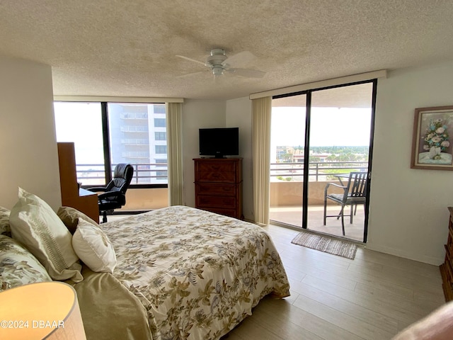
<svg viewBox="0 0 453 340"><path fill-rule="evenodd" d="M299 232L299 234L292 239L291 243L342 256L351 260L355 258L355 252L357 251L357 246L351 242L331 239L330 237L311 234L309 232Z"/></svg>

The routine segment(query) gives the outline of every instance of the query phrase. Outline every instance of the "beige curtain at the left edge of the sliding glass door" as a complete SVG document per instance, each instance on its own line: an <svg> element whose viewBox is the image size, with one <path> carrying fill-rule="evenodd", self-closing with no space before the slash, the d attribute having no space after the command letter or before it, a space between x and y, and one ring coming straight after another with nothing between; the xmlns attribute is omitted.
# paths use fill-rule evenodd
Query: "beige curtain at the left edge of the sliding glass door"
<svg viewBox="0 0 453 340"><path fill-rule="evenodd" d="M253 99L253 210L255 221L263 225L269 223L271 110L272 97Z"/></svg>

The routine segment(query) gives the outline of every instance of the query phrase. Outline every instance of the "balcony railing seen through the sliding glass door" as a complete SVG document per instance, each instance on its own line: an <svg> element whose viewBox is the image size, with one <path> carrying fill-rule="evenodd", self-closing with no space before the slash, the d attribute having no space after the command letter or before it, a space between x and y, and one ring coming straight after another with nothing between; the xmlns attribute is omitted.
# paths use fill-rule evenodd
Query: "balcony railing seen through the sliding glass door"
<svg viewBox="0 0 453 340"><path fill-rule="evenodd" d="M329 181L334 175L349 174L351 171L367 171L368 162L310 162L309 181ZM270 180L282 177L285 181L303 181L304 164L292 163L271 163Z"/></svg>

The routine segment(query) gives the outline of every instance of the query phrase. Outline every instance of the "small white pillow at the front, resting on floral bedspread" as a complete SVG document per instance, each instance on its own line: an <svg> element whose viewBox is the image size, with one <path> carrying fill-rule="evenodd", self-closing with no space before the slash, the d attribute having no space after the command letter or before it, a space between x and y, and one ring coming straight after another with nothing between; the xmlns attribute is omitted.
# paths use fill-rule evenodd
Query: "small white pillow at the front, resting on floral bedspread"
<svg viewBox="0 0 453 340"><path fill-rule="evenodd" d="M72 246L92 271L113 273L116 266L115 250L105 232L97 225L79 218L76 232L72 235Z"/></svg>

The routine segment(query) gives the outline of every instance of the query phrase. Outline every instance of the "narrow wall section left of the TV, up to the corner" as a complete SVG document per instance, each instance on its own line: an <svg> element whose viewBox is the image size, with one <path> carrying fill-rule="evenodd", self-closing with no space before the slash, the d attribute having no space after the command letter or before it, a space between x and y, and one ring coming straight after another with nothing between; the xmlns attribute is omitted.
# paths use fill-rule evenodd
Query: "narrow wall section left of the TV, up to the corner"
<svg viewBox="0 0 453 340"><path fill-rule="evenodd" d="M186 100L183 103L184 205L195 207L193 159L199 158L198 129L224 128L225 101Z"/></svg>

